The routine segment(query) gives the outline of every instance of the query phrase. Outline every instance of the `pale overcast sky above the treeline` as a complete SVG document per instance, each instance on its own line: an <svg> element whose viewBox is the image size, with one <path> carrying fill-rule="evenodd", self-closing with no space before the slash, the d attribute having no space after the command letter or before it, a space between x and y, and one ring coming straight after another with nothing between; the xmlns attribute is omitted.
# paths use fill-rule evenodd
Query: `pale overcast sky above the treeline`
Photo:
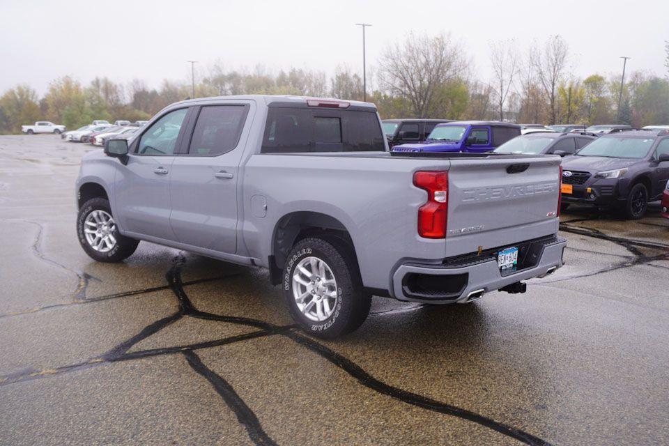
<svg viewBox="0 0 669 446"><path fill-rule="evenodd" d="M362 71L362 33L372 68L384 47L407 33L450 32L489 80L489 42L560 34L574 74L629 70L665 75L669 1L30 1L0 0L0 93L19 83L43 93L52 79L88 83L144 79L190 81L188 60L203 74L227 69L307 68ZM524 51L523 51L524 54Z"/></svg>

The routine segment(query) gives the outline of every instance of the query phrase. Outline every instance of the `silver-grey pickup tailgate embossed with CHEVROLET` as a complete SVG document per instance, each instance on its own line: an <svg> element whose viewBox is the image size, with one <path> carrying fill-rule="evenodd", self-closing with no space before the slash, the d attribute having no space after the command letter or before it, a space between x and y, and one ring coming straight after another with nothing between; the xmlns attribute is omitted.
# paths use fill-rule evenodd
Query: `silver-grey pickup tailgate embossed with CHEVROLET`
<svg viewBox="0 0 669 446"><path fill-rule="evenodd" d="M555 233L560 157L452 159L446 256Z"/></svg>

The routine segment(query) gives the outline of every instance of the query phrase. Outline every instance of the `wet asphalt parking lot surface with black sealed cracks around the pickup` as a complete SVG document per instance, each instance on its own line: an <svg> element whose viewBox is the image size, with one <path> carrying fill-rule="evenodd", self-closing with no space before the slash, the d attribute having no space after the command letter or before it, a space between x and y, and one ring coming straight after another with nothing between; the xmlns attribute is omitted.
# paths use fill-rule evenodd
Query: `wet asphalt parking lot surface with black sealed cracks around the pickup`
<svg viewBox="0 0 669 446"><path fill-rule="evenodd" d="M567 264L468 305L374 298L337 341L266 272L75 233L91 146L0 137L0 444L669 442L669 221L573 206Z"/></svg>

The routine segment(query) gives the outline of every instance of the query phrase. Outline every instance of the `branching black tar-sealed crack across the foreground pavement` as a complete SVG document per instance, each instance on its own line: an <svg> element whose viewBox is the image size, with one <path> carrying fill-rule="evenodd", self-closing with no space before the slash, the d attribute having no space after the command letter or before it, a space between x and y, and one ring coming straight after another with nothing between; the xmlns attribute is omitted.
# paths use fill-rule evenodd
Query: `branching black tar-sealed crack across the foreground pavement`
<svg viewBox="0 0 669 446"><path fill-rule="evenodd" d="M222 314L213 314L208 312L202 312L199 309L196 309L190 298L183 289L183 282L180 277L180 268L185 263L185 258L183 255L179 255L174 259L173 266L167 272L167 282L176 295L178 300L179 309L178 312L166 316L158 321L155 321L147 325L143 330L138 334L130 337L129 339L122 341L120 344L117 344L107 353L102 354L100 357L95 357L86 362L80 362L77 364L70 364L68 366L58 367L55 369L46 369L42 371L33 371L31 373L15 374L14 376L3 376L0 377L0 387L4 385L12 385L26 380L33 380L39 378L45 378L47 376L54 376L58 374L67 373L70 371L79 371L82 369L87 369L91 367L98 367L103 364L111 364L113 362L127 361L127 360L137 360L145 357L159 356L159 355L170 355L181 353L185 355L186 359L189 361L189 364L194 368L199 374L207 378L210 383L213 385L215 390L221 395L222 399L226 405L235 413L240 420L240 423L245 426L249 438L251 438L256 445L274 445L275 443L271 438L264 433L262 426L253 413L253 411L244 403L238 394L234 391L233 387L227 383L221 376L218 376L213 371L210 371L202 362L199 360L199 357L193 353L194 350L200 348L210 348L213 346L221 346L226 344L232 344L233 342L246 341L249 339L257 339L259 337L266 337L270 335L280 335L295 341L296 344L308 348L309 351L316 353L317 355L323 357L328 362L334 364L339 369L343 370L355 378L358 383L364 385L370 390L374 390L380 394L385 394L389 397L402 401L413 406L417 406L426 410L431 410L436 413L442 413L445 415L452 415L454 417L459 417L463 420L468 420L474 422L481 426L484 426L498 433L502 433L505 436L514 438L526 445L541 445L541 446L550 446L550 443L546 440L542 440L537 436L533 436L530 433L522 431L521 429L516 429L512 426L504 424L502 422L495 421L484 415L474 413L470 410L459 408L451 404L443 403L428 397L424 397L420 394L415 394L413 392L408 392L402 390L398 387L388 385L383 383L383 381L374 378L367 371L362 369L360 365L355 364L355 362L349 360L344 355L336 353L331 348L320 344L318 341L315 341L312 338L305 336L304 334L298 334L293 331L296 328L296 325L284 325L279 326L266 321L261 321L254 318L246 318L242 316L225 316ZM420 308L420 307L415 307ZM390 311L392 312L392 310ZM387 312L379 312L378 314L385 314ZM163 328L171 325L175 321L178 321L184 316L190 316L194 318L201 318L210 321L221 321L227 323L236 323L240 325L252 326L254 328L259 328L256 332L250 332L247 334L241 334L233 337L228 337L224 339L216 339L214 341L201 342L197 344L191 344L189 346L176 346L176 347L167 347L167 348L155 348L145 351L136 351L128 353L132 346L138 344L140 341L150 337L151 335L159 332ZM201 364L201 365L200 365Z"/></svg>

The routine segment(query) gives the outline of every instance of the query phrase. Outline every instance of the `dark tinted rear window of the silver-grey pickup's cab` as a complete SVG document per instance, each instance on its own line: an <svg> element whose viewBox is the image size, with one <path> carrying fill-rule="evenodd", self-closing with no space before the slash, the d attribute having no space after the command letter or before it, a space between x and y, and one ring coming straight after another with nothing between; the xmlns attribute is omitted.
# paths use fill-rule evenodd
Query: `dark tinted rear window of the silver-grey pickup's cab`
<svg viewBox="0 0 669 446"><path fill-rule="evenodd" d="M271 107L262 153L385 151L374 112Z"/></svg>

